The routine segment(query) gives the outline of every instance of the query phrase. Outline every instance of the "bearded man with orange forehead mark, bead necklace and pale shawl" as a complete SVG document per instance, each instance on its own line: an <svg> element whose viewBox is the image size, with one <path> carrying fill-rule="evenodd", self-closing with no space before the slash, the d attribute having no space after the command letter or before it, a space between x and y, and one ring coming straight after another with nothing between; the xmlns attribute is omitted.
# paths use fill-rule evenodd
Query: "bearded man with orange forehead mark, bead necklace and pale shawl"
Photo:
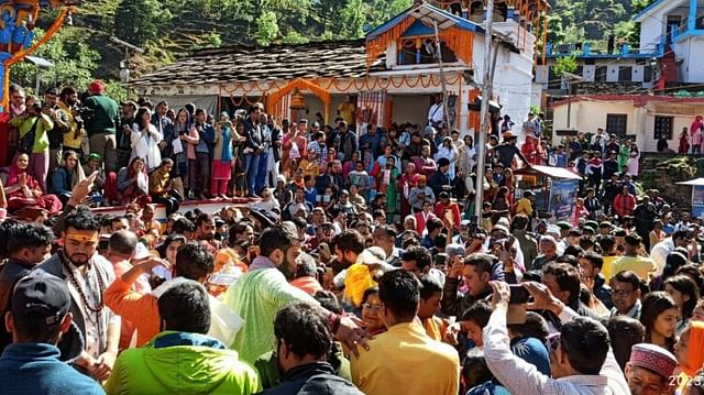
<svg viewBox="0 0 704 395"><path fill-rule="evenodd" d="M97 254L100 221L89 211L76 211L65 219L63 248L37 270L64 278L72 297L70 312L80 329L85 348L75 366L102 382L110 375L118 355L120 317L106 307L102 294L114 279L112 265ZM74 350L74 338L59 342L62 350Z"/></svg>

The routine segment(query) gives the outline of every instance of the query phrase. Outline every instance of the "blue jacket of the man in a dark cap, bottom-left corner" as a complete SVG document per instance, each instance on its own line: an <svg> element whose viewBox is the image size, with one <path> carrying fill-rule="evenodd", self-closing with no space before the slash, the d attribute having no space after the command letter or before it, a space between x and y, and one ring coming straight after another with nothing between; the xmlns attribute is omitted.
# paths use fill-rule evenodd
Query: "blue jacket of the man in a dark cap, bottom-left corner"
<svg viewBox="0 0 704 395"><path fill-rule="evenodd" d="M58 349L44 343L10 344L0 356L2 394L105 394L90 377L58 360Z"/></svg>

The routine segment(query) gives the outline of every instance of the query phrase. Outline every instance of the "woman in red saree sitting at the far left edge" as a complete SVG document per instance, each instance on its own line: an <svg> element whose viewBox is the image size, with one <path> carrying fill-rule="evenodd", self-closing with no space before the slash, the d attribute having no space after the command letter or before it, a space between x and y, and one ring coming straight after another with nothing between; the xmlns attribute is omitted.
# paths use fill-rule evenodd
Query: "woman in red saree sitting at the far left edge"
<svg viewBox="0 0 704 395"><path fill-rule="evenodd" d="M30 175L26 169L30 157L19 154L4 180L4 194L8 199L8 211L12 215L20 213L25 208L48 211L50 216L62 211L62 201L55 195L44 195L40 183Z"/></svg>

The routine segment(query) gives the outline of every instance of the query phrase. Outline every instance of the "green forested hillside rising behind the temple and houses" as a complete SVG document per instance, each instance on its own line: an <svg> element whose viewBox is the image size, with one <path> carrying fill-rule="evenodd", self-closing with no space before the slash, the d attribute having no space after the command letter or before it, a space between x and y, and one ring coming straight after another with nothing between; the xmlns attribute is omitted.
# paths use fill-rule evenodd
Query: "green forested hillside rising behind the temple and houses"
<svg viewBox="0 0 704 395"><path fill-rule="evenodd" d="M653 0L550 0L550 41L606 46L610 34L636 42L630 18ZM132 76L202 47L358 39L403 11L413 0L91 0L85 1L38 56L56 67L47 85L84 86L92 77L118 79L124 48L111 35L143 47L130 54ZM46 28L51 19L43 19ZM42 24L40 24L42 26ZM42 34L41 29L37 34ZM34 66L12 70L33 86ZM116 85L117 87L117 85Z"/></svg>

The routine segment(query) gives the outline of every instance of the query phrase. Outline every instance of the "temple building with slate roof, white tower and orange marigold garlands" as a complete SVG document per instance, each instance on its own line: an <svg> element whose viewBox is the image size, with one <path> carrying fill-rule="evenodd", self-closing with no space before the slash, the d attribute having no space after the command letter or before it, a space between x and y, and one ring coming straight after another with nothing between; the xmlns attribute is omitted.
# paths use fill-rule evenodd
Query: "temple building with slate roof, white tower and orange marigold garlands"
<svg viewBox="0 0 704 395"><path fill-rule="evenodd" d="M531 89L535 46L536 36L546 31L548 11L542 0L496 1L492 99L517 125L530 105L539 102ZM172 106L194 102L217 112L261 101L278 120L324 123L351 100L359 128L394 121L425 125L444 86L446 119L468 133L480 127L479 112L468 105L481 96L484 15L482 1L417 1L364 40L202 50L130 85L139 95Z"/></svg>

